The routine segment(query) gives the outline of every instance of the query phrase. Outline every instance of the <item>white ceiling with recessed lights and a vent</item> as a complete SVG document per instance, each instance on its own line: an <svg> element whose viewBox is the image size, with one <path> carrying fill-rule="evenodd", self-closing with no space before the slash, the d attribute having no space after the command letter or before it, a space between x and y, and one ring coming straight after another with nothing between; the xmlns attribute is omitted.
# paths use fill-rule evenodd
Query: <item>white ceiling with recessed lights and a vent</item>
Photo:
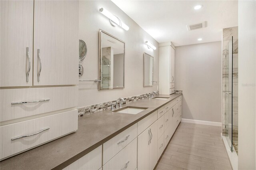
<svg viewBox="0 0 256 170"><path fill-rule="evenodd" d="M175 46L222 40L222 29L238 26L234 0L112 0L159 43ZM199 10L194 6L202 5ZM207 21L207 27L188 31L186 25ZM198 41L202 38L202 41Z"/></svg>

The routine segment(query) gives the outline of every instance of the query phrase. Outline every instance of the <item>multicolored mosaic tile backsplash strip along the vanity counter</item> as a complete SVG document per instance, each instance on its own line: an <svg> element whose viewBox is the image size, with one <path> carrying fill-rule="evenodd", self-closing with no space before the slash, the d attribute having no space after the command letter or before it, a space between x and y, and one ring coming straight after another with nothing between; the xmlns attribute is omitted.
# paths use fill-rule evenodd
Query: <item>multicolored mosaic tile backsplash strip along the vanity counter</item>
<svg viewBox="0 0 256 170"><path fill-rule="evenodd" d="M156 91L157 95L159 95L159 91ZM127 104L127 103L132 103L134 101L138 101L138 100L142 100L142 99L146 99L149 98L150 93L146 93L143 95L137 95L137 96L132 96L132 97L126 97L124 98L125 102L123 103L123 105ZM86 115L91 115L100 111L104 111L107 109L110 109L111 106L110 104L112 103L116 103L116 101L108 101L105 103L99 103L96 105L91 105L91 106L86 106L86 107L82 107L78 109L78 117L83 117Z"/></svg>

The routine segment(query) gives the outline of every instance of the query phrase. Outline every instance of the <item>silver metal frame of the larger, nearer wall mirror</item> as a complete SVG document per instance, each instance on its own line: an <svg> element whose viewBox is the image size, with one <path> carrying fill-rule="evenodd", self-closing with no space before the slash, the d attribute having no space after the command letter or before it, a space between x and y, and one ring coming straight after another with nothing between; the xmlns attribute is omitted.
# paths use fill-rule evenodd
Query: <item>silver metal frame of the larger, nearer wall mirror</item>
<svg viewBox="0 0 256 170"><path fill-rule="evenodd" d="M125 42L120 40L119 38L116 38L115 36L112 36L111 34L105 32L105 31L99 29L99 38L98 38L98 80L102 80L101 79L101 52L102 52L101 51L101 48L102 48L102 46L101 46L101 34L102 33L104 33L104 34L106 34L106 35L124 43L124 73L125 73ZM124 76L124 83L125 83L125 76ZM101 86L101 81L99 81L98 82L98 90L99 91L100 90L112 90L112 89L124 89L125 84L124 84L123 87L113 87L113 88L104 88L104 89L101 89L100 86Z"/></svg>

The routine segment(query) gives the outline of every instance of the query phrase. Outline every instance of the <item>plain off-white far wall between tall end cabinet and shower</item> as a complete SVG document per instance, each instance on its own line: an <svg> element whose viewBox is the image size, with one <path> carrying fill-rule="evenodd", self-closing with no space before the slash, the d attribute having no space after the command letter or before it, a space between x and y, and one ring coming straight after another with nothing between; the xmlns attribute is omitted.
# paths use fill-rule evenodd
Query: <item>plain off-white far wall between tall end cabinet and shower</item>
<svg viewBox="0 0 256 170"><path fill-rule="evenodd" d="M183 91L183 119L221 122L221 70L221 42L176 47L175 90Z"/></svg>

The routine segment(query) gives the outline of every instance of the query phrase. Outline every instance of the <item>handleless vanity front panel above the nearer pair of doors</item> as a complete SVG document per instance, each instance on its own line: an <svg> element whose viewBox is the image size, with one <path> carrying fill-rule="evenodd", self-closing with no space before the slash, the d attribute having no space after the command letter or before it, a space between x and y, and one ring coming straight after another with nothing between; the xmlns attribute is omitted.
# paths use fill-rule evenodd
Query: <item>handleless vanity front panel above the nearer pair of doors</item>
<svg viewBox="0 0 256 170"><path fill-rule="evenodd" d="M157 120L157 111L154 111L144 119L138 122L138 135Z"/></svg>

